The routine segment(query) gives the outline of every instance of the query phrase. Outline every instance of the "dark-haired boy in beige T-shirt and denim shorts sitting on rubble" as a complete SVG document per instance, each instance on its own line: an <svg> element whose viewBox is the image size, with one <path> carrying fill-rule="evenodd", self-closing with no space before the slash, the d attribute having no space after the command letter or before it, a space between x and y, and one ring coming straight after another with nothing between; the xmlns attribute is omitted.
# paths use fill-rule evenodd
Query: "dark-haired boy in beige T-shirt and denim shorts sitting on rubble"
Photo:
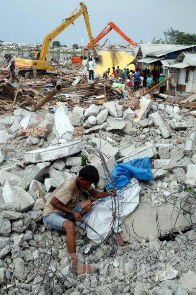
<svg viewBox="0 0 196 295"><path fill-rule="evenodd" d="M73 222L82 222L82 216L92 209L90 200L79 202L82 190L89 192L96 199L116 194L116 191L96 191L91 185L93 183L96 185L98 181L97 168L92 165L82 168L78 176L66 180L52 192L43 211L43 221L47 228L66 232L66 243L72 259L73 271L76 273L87 273L95 270L92 265L84 266L77 260L76 256L75 237L77 236Z"/></svg>

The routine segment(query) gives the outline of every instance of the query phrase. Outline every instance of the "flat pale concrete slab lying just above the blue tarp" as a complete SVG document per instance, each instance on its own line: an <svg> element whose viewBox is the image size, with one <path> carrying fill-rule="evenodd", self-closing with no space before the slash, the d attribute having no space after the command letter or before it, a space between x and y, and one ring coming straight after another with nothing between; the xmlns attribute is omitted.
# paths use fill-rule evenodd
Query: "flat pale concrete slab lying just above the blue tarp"
<svg viewBox="0 0 196 295"><path fill-rule="evenodd" d="M120 156L123 156L123 158L118 159L117 162L123 161L125 163L137 158L151 158L157 154L157 150L152 144L140 148L136 148L135 146L131 145L125 148L121 148L119 150L119 154Z"/></svg>

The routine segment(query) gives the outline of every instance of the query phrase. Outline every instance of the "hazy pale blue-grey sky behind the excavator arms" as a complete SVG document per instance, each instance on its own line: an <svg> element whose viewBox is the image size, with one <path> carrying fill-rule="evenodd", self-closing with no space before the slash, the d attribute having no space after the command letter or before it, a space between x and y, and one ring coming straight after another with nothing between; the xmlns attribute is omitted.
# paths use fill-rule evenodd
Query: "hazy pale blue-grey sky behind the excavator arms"
<svg viewBox="0 0 196 295"><path fill-rule="evenodd" d="M93 37L113 21L132 40L148 43L163 37L172 27L196 33L196 0L85 0ZM0 40L42 43L44 36L68 17L79 0L3 0L0 4ZM83 16L65 29L56 40L73 45L89 42ZM110 44L127 42L115 31L108 33ZM104 42L101 41L101 43Z"/></svg>

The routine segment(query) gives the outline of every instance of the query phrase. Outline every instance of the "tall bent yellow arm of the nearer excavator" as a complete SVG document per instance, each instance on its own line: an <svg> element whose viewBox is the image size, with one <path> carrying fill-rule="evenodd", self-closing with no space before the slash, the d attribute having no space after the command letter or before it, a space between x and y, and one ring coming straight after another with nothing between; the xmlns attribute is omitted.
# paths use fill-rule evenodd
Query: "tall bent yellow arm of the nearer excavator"
<svg viewBox="0 0 196 295"><path fill-rule="evenodd" d="M91 32L89 16L88 16L88 11L87 11L86 5L83 2L80 2L80 6L81 7L77 12L75 12L75 10L73 10L71 15L68 18L66 18L65 21L62 24L60 24L57 28L53 29L44 38L43 43L42 43L42 49L41 49L41 53L40 53L40 58L39 58L40 60L45 60L46 55L47 55L47 53L49 51L50 42L56 36L58 36L58 34L60 34L64 29L66 29L68 26L70 26L81 14L83 14L83 16L84 16L87 32L88 32L88 35L89 35L90 42L92 44L93 54L95 56L97 56L94 41L93 41L93 36L92 36L92 32Z"/></svg>

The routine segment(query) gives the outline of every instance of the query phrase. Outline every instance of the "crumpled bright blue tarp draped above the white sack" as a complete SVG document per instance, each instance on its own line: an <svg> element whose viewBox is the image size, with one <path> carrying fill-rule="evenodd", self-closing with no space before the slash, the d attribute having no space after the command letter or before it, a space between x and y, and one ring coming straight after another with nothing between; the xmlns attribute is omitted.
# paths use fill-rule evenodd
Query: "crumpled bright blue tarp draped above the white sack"
<svg viewBox="0 0 196 295"><path fill-rule="evenodd" d="M149 157L134 159L123 164L117 164L112 170L113 181L117 190L122 189L127 183L131 183L130 179L149 180L153 179ZM112 188L111 180L107 179L107 189Z"/></svg>

